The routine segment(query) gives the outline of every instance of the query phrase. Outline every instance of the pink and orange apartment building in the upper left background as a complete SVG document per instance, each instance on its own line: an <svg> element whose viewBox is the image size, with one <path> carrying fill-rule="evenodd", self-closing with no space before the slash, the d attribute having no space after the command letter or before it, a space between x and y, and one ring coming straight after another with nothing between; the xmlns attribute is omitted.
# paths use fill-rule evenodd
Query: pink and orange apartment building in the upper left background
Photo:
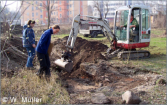
<svg viewBox="0 0 167 105"><path fill-rule="evenodd" d="M21 8L21 13L24 12L21 24L24 25L29 19L32 19L36 20L37 24L46 25L48 22L47 5L50 6L50 24L68 24L76 15L88 14L87 1L25 1Z"/></svg>

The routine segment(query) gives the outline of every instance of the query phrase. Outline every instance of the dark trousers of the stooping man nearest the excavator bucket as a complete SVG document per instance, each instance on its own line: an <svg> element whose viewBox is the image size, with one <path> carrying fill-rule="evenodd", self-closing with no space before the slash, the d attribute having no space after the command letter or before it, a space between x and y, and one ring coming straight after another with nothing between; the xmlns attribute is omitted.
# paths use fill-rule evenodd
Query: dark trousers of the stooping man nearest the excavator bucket
<svg viewBox="0 0 167 105"><path fill-rule="evenodd" d="M37 52L38 60L40 63L40 69L38 73L40 75L43 75L45 72L45 76L51 76L50 74L50 60L49 60L49 55L47 54L42 54Z"/></svg>

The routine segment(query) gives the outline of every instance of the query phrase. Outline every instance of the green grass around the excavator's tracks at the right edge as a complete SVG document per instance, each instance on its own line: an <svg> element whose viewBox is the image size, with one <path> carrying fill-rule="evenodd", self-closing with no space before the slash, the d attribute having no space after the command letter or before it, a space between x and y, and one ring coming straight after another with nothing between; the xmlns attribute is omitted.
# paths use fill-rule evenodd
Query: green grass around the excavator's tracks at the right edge
<svg viewBox="0 0 167 105"><path fill-rule="evenodd" d="M166 38L152 38L150 46L141 50L150 51L150 58L125 61L114 59L111 62L128 64L141 70L147 69L166 76Z"/></svg>

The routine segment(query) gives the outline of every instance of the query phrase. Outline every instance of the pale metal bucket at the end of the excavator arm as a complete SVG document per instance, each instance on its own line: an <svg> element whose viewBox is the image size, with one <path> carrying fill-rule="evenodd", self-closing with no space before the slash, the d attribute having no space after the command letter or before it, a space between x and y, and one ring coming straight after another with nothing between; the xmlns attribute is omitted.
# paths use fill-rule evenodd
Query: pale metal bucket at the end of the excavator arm
<svg viewBox="0 0 167 105"><path fill-rule="evenodd" d="M73 62L63 61L63 59L57 59L54 63L67 72L71 72L73 68Z"/></svg>

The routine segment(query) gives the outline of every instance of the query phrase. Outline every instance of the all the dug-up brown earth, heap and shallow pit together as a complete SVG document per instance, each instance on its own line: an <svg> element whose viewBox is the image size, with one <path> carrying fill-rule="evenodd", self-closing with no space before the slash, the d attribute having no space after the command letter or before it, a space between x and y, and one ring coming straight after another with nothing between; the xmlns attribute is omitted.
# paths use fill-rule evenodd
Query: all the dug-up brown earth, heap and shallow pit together
<svg viewBox="0 0 167 105"><path fill-rule="evenodd" d="M52 71L58 70L53 62L61 58L67 39L68 37L64 37L54 41L51 54ZM112 97L113 103L119 103L121 96L114 95L115 93L122 94L126 90L136 93L148 91L161 77L149 70L140 70L132 65L115 65L107 61L101 54L107 48L98 41L87 41L77 37L73 49L72 72L58 73L62 86L67 88L70 94L71 104L92 104L89 96L96 92L104 92L105 95Z"/></svg>

